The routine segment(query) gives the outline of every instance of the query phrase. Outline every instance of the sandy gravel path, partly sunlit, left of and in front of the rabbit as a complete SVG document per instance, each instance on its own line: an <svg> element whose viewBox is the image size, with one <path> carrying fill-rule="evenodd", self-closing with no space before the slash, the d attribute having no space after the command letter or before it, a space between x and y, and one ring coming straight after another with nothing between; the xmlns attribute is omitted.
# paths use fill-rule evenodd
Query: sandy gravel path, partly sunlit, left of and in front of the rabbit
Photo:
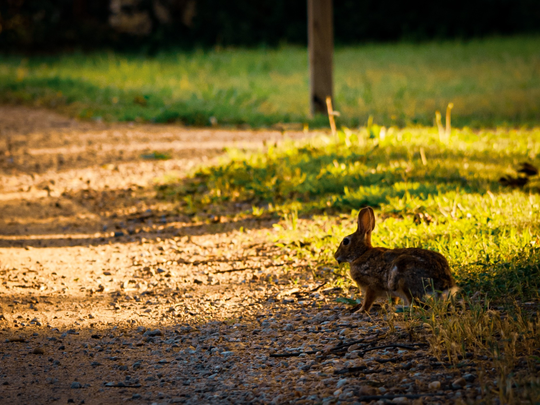
<svg viewBox="0 0 540 405"><path fill-rule="evenodd" d="M0 403L476 397L474 359L447 368L420 335L336 305L271 222L156 199L171 173L282 137L0 107Z"/></svg>

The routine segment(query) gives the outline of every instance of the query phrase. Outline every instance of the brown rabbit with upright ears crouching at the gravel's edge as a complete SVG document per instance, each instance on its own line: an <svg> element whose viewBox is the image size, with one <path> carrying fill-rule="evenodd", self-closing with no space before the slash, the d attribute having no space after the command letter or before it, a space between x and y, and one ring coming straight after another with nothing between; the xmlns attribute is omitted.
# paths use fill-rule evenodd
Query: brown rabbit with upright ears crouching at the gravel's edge
<svg viewBox="0 0 540 405"><path fill-rule="evenodd" d="M406 305L426 293L447 297L457 291L448 261L440 253L409 247L373 247L375 228L373 208L362 208L356 232L343 238L334 258L338 264L350 263L350 275L362 292L358 312L368 312L377 298L401 298Z"/></svg>

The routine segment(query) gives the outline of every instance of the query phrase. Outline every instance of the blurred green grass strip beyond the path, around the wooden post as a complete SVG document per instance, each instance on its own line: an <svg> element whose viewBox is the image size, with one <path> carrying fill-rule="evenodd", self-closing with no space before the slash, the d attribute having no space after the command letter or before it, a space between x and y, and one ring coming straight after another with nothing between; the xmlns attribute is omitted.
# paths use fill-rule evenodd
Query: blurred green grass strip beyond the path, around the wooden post
<svg viewBox="0 0 540 405"><path fill-rule="evenodd" d="M453 124L540 120L540 37L374 44L335 51L339 124L430 125L453 102ZM0 57L0 101L109 121L327 125L308 117L303 48L226 49L156 57L79 53ZM213 117L213 118L212 118Z"/></svg>

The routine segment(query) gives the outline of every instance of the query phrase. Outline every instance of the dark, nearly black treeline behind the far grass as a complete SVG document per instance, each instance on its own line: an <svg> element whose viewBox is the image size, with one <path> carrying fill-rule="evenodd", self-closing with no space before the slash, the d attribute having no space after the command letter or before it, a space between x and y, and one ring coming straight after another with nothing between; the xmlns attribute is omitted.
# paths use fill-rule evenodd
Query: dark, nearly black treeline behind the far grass
<svg viewBox="0 0 540 405"><path fill-rule="evenodd" d="M540 31L538 0L334 0L338 44ZM301 0L0 0L0 49L306 43Z"/></svg>

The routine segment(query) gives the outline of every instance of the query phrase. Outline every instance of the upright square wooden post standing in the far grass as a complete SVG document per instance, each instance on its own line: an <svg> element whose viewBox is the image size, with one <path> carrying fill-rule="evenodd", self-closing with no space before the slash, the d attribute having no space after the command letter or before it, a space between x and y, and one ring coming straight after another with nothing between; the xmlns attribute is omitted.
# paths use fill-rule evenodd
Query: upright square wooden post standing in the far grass
<svg viewBox="0 0 540 405"><path fill-rule="evenodd" d="M309 104L311 114L327 111L326 98L333 97L332 58L334 29L332 0L307 1L309 52Z"/></svg>

